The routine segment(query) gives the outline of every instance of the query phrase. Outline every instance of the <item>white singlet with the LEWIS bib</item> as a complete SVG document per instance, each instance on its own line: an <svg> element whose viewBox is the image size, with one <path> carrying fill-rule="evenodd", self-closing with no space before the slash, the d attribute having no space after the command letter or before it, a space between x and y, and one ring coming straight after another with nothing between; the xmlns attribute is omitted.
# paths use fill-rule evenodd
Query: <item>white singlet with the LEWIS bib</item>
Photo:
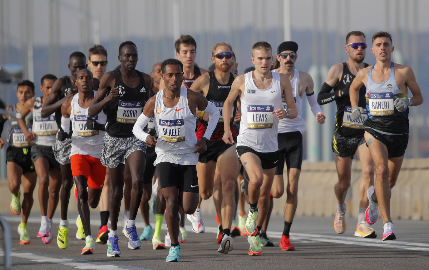
<svg viewBox="0 0 429 270"><path fill-rule="evenodd" d="M272 71L271 85L256 87L252 72L245 74L245 89L241 99L242 120L237 146L248 146L260 153L278 150L278 118L272 112L281 108L280 74Z"/></svg>

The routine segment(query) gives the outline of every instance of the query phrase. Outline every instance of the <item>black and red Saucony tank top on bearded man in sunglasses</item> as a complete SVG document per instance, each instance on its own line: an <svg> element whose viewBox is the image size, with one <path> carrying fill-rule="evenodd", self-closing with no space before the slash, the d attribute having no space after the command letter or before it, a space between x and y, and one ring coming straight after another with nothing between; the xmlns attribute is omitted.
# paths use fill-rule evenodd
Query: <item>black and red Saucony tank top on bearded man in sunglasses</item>
<svg viewBox="0 0 429 270"><path fill-rule="evenodd" d="M215 72L210 71L208 72L208 75L210 75L210 84L208 86L208 92L205 96L208 101L215 104L216 107L219 108L219 111L221 111L220 119L224 119L225 121L230 121L230 127L233 127L233 121L231 121L231 116L223 115L223 107L225 99L227 99L228 95L230 94L231 85L234 81L234 75L230 72L230 80L227 84L220 84L218 80L216 80ZM236 102L233 103L233 117L236 114ZM198 121L198 127L196 129L196 139L201 140L202 136L205 133L205 129L207 129L207 122L204 120L199 119ZM233 133L233 136L236 137L236 129L231 128L231 132ZM219 121L218 125L215 128L215 131L213 131L213 134L211 135L210 141L221 141L222 137L224 136L224 122Z"/></svg>

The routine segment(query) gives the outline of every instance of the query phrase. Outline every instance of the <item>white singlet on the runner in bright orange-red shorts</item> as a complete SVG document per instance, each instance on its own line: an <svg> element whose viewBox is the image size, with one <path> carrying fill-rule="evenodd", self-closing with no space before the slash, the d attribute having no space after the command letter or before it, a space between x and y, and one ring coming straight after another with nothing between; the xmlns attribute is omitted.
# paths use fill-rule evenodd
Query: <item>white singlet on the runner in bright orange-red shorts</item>
<svg viewBox="0 0 429 270"><path fill-rule="evenodd" d="M95 96L94 91L94 96ZM72 121L72 150L70 156L79 154L85 156L93 156L100 158L101 150L103 150L104 131L87 129L86 119L88 117L88 108L79 106L79 93L73 96L71 102L70 120ZM106 114L101 111L94 119L97 123L106 123Z"/></svg>

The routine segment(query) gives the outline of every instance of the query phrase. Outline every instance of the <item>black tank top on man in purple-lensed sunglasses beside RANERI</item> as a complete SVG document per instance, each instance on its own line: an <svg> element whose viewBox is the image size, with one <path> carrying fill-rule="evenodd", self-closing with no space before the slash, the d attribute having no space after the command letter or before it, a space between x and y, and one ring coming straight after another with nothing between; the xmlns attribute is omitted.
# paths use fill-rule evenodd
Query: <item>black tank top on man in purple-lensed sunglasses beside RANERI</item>
<svg viewBox="0 0 429 270"><path fill-rule="evenodd" d="M367 63L364 63L365 67L369 66ZM343 73L341 74L341 80L334 87L334 91L344 89L348 84L351 84L353 79L356 76L350 72L350 69L347 67L347 63L343 63ZM360 87L359 89L359 100L357 102L358 106L362 108L366 108L366 100L365 100L366 88L365 85ZM344 116L344 108L345 106L351 106L350 97L344 96L338 99L335 99L337 103L337 113L335 114L335 132L343 135L344 137L361 137L363 136L363 129L352 129L346 126L342 126L343 124L343 116Z"/></svg>

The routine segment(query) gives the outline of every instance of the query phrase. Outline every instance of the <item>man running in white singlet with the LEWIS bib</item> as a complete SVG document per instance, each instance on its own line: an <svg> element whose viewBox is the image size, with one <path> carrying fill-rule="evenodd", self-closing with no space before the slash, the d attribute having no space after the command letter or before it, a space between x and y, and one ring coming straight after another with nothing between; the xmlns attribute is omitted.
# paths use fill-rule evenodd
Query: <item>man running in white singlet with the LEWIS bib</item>
<svg viewBox="0 0 429 270"><path fill-rule="evenodd" d="M250 244L249 255L261 255L259 232L269 209L269 193L278 162L278 121L295 118L297 110L289 78L270 71L272 48L267 42L252 47L254 72L238 76L224 103L224 115L231 115L233 102L240 96L242 120L236 151L249 175L250 210L245 225ZM282 96L289 113L281 108ZM230 123L224 122L224 142L234 144Z"/></svg>

